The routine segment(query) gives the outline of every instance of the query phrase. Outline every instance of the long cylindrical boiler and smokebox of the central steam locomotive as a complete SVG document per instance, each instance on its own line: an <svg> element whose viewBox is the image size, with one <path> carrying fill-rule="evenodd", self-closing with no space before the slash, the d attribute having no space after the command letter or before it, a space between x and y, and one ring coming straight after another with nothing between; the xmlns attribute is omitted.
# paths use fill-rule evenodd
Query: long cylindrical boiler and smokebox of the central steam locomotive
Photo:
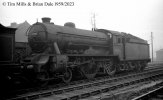
<svg viewBox="0 0 163 100"><path fill-rule="evenodd" d="M54 49L51 43L56 43L61 54L109 54L109 35L77 29L72 24L70 22L65 26L50 22L34 24L28 32L28 40L33 52L42 53L47 48Z"/></svg>

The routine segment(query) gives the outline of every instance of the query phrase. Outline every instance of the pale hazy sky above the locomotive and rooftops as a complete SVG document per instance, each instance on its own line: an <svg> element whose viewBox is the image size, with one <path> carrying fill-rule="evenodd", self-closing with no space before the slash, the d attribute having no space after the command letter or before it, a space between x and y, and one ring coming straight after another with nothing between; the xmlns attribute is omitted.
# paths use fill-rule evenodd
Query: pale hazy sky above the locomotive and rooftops
<svg viewBox="0 0 163 100"><path fill-rule="evenodd" d="M26 5L23 3L19 5L20 2ZM58 6L56 5L58 2L68 3L71 6ZM73 22L77 28L90 30L93 14L95 14L96 27L99 29L130 33L147 40L149 44L151 44L152 32L154 54L163 48L163 0L0 1L0 23L4 26L9 26L12 22L24 21L34 24L37 20L41 22L42 17L50 17L57 25Z"/></svg>

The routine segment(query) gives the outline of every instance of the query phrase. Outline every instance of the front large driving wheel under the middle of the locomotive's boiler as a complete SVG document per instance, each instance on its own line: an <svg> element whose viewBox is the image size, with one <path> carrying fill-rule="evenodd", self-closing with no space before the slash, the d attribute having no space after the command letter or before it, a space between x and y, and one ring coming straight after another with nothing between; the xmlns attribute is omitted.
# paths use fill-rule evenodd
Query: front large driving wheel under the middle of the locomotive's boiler
<svg viewBox="0 0 163 100"><path fill-rule="evenodd" d="M82 65L80 69L87 79L93 79L97 74L99 67L94 62L90 62Z"/></svg>

